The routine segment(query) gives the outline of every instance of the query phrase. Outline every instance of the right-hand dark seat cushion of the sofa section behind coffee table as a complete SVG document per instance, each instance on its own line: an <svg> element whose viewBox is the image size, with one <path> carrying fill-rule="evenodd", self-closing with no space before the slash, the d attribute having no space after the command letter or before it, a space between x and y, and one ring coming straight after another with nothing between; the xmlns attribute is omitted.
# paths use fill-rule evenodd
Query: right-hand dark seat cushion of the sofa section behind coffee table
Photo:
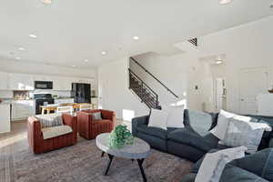
<svg viewBox="0 0 273 182"><path fill-rule="evenodd" d="M203 136L197 135L197 133L188 130L187 128L176 129L167 135L169 140L173 140L177 143L189 145L191 147L197 147L201 150L208 151L216 146L214 143L210 143Z"/></svg>

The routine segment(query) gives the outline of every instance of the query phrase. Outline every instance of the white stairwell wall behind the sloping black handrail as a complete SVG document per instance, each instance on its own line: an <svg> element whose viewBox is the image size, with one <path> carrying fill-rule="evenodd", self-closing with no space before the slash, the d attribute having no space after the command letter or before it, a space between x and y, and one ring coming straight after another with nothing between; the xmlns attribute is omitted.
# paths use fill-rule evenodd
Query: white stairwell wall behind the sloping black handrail
<svg viewBox="0 0 273 182"><path fill-rule="evenodd" d="M196 56L183 53L175 56L147 53L134 57L138 63L145 66L149 72L178 96L178 98L173 96L152 76L149 76L143 69L132 62L131 66L136 71L137 76L140 76L148 86L156 91L161 105L186 102L187 107L198 109L198 106L195 104L195 97L198 95L198 92L194 90L195 85L197 85L196 80L194 80L197 66ZM189 62L188 59L193 61ZM192 95L188 93L192 93Z"/></svg>

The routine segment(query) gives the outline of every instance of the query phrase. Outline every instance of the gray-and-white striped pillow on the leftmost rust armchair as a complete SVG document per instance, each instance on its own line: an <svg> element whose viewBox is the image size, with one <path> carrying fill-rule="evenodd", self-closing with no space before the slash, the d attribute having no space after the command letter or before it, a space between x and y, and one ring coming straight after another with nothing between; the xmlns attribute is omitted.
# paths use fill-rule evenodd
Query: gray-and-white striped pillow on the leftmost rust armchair
<svg viewBox="0 0 273 182"><path fill-rule="evenodd" d="M63 117L61 114L37 115L35 116L42 127L63 126Z"/></svg>

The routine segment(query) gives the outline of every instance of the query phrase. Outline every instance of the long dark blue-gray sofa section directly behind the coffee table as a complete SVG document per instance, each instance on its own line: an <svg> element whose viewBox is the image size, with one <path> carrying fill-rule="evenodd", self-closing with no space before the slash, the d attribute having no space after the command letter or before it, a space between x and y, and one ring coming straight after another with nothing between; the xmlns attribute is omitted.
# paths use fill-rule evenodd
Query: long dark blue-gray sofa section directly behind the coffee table
<svg viewBox="0 0 273 182"><path fill-rule="evenodd" d="M211 121L208 130L216 126L217 114L207 114ZM225 148L218 146L218 139L209 132L200 135L190 122L190 111L184 112L184 128L167 128L167 130L148 125L149 116L140 116L132 120L133 136L142 138L160 151L184 157L196 162L212 148Z"/></svg>

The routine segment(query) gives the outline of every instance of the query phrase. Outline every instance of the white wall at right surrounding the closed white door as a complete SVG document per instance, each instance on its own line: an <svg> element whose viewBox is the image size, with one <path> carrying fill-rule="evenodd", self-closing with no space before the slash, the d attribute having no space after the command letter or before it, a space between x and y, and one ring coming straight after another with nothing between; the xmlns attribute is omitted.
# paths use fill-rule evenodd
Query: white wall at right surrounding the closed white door
<svg viewBox="0 0 273 182"><path fill-rule="evenodd" d="M199 38L199 57L226 55L227 110L239 113L240 69L268 67L273 85L272 32L273 16Z"/></svg>

